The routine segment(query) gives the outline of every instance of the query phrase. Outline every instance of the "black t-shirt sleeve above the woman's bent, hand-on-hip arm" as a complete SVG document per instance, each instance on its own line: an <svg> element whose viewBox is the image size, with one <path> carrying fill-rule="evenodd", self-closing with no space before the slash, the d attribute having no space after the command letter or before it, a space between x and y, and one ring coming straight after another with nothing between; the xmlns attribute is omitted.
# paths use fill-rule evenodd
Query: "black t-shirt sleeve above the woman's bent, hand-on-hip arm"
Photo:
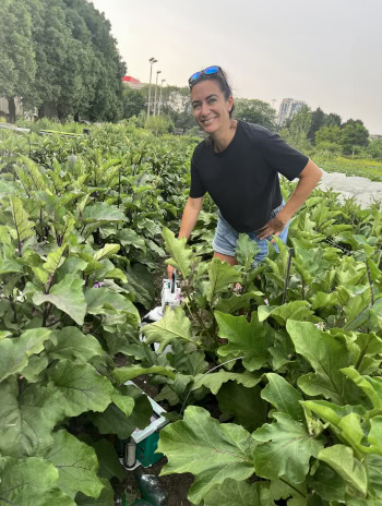
<svg viewBox="0 0 382 506"><path fill-rule="evenodd" d="M306 155L289 146L274 133L265 136L263 154L272 169L285 176L289 181L297 178L309 161Z"/></svg>

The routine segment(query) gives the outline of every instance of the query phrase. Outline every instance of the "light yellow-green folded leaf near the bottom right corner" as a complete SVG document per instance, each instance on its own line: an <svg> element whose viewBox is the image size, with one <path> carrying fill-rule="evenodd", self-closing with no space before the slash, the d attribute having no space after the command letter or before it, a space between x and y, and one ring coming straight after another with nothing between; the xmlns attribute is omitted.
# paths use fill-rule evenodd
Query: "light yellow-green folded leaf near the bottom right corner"
<svg viewBox="0 0 382 506"><path fill-rule="evenodd" d="M318 458L331 466L347 483L366 496L368 479L362 462L354 457L353 449L333 445L320 451Z"/></svg>

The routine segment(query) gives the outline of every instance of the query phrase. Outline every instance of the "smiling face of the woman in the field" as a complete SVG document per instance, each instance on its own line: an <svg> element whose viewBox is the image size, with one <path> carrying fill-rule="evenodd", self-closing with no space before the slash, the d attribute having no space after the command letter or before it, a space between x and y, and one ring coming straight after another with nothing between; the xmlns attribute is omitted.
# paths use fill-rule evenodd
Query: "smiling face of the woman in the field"
<svg viewBox="0 0 382 506"><path fill-rule="evenodd" d="M193 117L204 132L213 134L230 126L229 111L234 98L225 99L215 80L201 81L191 89Z"/></svg>

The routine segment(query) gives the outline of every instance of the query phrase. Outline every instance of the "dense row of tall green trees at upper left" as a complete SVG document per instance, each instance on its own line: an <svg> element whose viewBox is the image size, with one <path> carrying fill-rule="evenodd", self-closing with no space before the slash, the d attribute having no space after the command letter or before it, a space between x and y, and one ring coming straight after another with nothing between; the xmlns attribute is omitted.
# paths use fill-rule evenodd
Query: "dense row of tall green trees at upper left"
<svg viewBox="0 0 382 506"><path fill-rule="evenodd" d="M38 117L123 118L127 72L110 23L86 0L0 0L0 96Z"/></svg>

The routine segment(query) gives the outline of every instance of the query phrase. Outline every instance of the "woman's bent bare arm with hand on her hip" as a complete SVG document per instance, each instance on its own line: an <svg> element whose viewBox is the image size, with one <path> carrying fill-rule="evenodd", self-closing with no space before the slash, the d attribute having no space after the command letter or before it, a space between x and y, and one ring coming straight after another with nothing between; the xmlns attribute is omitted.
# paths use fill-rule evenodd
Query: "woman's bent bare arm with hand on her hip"
<svg viewBox="0 0 382 506"><path fill-rule="evenodd" d="M279 236L289 219L312 193L321 177L322 170L312 160L309 160L298 176L299 182L285 207L259 230L259 239L266 239L272 234Z"/></svg>

